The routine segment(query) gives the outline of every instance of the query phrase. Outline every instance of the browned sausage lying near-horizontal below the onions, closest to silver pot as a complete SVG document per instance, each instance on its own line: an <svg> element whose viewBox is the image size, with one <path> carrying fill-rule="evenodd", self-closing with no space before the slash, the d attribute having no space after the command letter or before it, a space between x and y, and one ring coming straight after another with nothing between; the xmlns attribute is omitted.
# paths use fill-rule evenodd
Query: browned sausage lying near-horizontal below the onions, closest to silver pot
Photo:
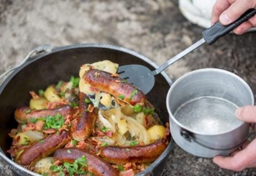
<svg viewBox="0 0 256 176"><path fill-rule="evenodd" d="M166 144L157 140L149 145L136 147L104 147L100 156L110 163L149 163L156 160L166 149Z"/></svg>

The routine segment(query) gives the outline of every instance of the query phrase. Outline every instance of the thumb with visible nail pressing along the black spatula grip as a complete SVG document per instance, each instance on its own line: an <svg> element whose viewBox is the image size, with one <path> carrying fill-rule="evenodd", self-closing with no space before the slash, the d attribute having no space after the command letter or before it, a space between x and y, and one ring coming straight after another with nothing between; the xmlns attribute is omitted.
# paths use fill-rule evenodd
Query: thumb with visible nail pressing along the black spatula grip
<svg viewBox="0 0 256 176"><path fill-rule="evenodd" d="M245 11L255 8L256 1L237 0L220 15L220 23L227 25L238 19Z"/></svg>

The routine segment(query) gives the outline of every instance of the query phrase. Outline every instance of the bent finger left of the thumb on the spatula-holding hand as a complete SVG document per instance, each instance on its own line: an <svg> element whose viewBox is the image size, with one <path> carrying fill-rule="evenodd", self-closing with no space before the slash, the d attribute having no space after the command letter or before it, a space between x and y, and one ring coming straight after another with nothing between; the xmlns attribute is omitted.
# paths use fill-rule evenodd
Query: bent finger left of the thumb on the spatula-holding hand
<svg viewBox="0 0 256 176"><path fill-rule="evenodd" d="M217 0L211 13L211 25L219 21L220 14L230 6L228 0Z"/></svg>

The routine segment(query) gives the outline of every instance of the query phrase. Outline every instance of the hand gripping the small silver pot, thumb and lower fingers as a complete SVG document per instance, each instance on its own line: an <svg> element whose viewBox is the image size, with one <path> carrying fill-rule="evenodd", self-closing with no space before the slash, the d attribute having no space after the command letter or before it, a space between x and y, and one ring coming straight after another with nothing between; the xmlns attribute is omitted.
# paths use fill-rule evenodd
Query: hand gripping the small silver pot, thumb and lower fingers
<svg viewBox="0 0 256 176"><path fill-rule="evenodd" d="M256 122L256 106L238 108L235 114L239 120L244 122ZM256 138L252 142L246 141L242 146L242 150L233 152L230 157L214 157L213 162L222 168L235 171L241 171L248 167L256 167Z"/></svg>

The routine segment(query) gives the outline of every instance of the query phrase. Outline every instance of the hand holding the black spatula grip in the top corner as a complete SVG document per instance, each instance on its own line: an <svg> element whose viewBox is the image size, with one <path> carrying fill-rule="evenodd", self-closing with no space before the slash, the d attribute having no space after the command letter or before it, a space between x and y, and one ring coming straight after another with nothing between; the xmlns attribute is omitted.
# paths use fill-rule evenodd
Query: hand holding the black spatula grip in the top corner
<svg viewBox="0 0 256 176"><path fill-rule="evenodd" d="M256 8L256 0L217 0L213 6L211 24L220 21L221 24L228 25L251 8ZM240 24L233 32L243 34L253 27L256 27L256 15Z"/></svg>

